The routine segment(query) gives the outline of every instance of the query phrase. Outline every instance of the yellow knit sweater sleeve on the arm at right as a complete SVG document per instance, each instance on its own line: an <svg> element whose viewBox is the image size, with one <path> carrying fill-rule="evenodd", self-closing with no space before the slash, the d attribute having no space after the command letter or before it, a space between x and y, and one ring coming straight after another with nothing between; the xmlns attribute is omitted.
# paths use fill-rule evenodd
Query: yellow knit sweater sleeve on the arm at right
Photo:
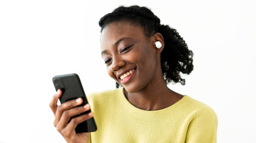
<svg viewBox="0 0 256 143"><path fill-rule="evenodd" d="M188 125L185 143L216 143L218 119L214 110L206 107L193 116Z"/></svg>

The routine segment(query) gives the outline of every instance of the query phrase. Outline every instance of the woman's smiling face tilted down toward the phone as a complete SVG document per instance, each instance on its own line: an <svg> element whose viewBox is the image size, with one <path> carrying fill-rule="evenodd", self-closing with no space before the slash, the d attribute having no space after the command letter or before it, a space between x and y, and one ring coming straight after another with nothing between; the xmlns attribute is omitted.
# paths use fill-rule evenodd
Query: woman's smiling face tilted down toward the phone
<svg viewBox="0 0 256 143"><path fill-rule="evenodd" d="M101 54L110 77L127 92L138 92L156 77L155 38L145 37L139 26L114 22L101 33ZM159 59L160 60L160 59Z"/></svg>

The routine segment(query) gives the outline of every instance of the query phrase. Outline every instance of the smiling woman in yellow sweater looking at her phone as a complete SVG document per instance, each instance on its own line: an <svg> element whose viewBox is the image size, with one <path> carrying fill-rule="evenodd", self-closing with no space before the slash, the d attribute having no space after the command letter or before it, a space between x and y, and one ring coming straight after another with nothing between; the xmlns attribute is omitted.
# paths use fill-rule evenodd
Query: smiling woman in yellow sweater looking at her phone
<svg viewBox="0 0 256 143"><path fill-rule="evenodd" d="M101 55L116 90L87 96L98 130L75 133L92 113L76 99L57 106L58 90L50 107L54 126L67 142L216 142L217 116L207 105L169 89L185 84L180 72L193 70L193 53L175 29L161 25L145 7L119 7L102 17ZM118 88L119 85L122 87Z"/></svg>

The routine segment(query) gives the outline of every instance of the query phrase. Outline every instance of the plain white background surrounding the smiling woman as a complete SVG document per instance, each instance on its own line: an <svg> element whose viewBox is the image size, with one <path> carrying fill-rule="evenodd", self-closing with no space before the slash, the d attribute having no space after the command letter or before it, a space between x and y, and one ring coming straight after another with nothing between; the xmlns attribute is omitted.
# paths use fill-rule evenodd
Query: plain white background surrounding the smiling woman
<svg viewBox="0 0 256 143"><path fill-rule="evenodd" d="M169 87L215 110L217 141L255 141L255 1L2 0L1 143L65 142L49 107L52 77L77 73L86 93L114 89L100 55L98 21L133 4L151 8L193 51L186 85Z"/></svg>

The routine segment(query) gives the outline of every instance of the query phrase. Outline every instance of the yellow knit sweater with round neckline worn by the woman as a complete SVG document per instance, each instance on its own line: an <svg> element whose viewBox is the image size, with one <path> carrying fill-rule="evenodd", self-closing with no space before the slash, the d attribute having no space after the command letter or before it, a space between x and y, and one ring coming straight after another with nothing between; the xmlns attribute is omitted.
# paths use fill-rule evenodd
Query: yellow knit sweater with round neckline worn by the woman
<svg viewBox="0 0 256 143"><path fill-rule="evenodd" d="M98 129L92 143L215 143L217 116L212 108L184 96L157 111L133 106L123 87L87 96Z"/></svg>

